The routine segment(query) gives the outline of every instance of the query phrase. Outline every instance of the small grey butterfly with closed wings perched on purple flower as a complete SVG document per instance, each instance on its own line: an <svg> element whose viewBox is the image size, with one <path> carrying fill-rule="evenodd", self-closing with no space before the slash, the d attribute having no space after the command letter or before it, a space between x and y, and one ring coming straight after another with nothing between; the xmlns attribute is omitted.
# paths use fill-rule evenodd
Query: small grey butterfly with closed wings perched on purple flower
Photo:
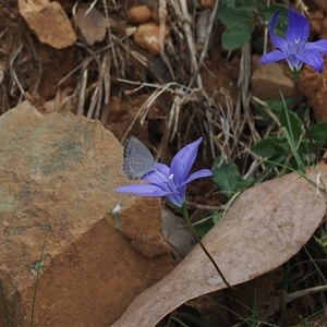
<svg viewBox="0 0 327 327"><path fill-rule="evenodd" d="M131 136L124 146L122 171L130 180L137 180L152 171L156 160L148 148L135 136Z"/></svg>

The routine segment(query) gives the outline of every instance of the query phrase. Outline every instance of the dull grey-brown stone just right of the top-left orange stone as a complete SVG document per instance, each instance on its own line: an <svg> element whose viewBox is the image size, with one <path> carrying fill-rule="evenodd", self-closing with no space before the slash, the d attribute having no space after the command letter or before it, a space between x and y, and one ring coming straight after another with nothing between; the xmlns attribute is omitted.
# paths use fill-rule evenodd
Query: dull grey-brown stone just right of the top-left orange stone
<svg viewBox="0 0 327 327"><path fill-rule="evenodd" d="M108 22L96 8L93 8L85 15L87 10L87 8L80 8L77 10L76 25L78 26L81 38L88 46L93 46L95 43L105 39Z"/></svg>

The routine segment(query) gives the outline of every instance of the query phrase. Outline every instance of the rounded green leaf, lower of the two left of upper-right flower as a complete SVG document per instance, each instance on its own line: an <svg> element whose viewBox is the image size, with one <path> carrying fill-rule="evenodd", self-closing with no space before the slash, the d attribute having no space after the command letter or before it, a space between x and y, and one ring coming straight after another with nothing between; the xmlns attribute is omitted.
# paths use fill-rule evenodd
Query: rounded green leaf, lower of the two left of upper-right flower
<svg viewBox="0 0 327 327"><path fill-rule="evenodd" d="M251 40L251 35L253 32L253 26L244 25L244 24L232 24L229 25L221 38L221 45L223 49L234 50L242 48Z"/></svg>

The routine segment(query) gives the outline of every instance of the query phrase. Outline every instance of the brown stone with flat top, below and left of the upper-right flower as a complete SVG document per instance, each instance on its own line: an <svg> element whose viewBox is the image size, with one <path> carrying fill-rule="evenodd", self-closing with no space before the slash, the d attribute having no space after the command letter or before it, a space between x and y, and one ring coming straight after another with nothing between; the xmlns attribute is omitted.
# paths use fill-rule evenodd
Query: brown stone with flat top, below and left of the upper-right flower
<svg viewBox="0 0 327 327"><path fill-rule="evenodd" d="M262 100L280 101L280 90L284 98L295 96L294 82L286 76L281 66L276 63L259 65L252 78L252 94Z"/></svg>

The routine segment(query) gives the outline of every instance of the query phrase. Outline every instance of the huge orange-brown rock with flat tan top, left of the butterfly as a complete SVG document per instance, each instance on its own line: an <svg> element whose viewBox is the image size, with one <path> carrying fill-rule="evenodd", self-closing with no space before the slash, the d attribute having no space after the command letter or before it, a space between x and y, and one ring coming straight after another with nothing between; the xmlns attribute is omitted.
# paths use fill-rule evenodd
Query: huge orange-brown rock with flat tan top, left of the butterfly
<svg viewBox="0 0 327 327"><path fill-rule="evenodd" d="M37 326L112 324L171 269L159 199L112 191L122 147L98 121L23 102L0 137L0 326L31 326L34 299Z"/></svg>

